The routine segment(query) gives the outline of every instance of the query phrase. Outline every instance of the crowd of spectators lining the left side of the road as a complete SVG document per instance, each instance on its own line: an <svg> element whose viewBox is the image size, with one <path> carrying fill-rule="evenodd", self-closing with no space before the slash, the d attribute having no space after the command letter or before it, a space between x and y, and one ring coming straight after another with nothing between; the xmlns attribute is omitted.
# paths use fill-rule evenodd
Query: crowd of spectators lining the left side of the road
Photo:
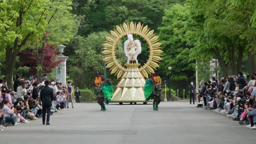
<svg viewBox="0 0 256 144"><path fill-rule="evenodd" d="M42 117L43 107L40 91L45 85L53 89L50 115L68 109L69 101L74 108L71 82L68 82L68 85L62 85L62 83L55 82L54 79L47 80L46 74L41 80L38 80L36 76L24 80L17 74L13 83L14 90L11 91L8 89L7 83L0 79L0 131L7 126L30 123L30 121ZM78 88L75 92L78 92Z"/></svg>

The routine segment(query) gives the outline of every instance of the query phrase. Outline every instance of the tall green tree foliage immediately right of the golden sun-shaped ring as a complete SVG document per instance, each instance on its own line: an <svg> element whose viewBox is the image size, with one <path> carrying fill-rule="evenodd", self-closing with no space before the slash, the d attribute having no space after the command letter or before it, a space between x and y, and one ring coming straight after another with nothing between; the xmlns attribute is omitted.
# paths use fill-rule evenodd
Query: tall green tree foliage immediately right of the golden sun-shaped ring
<svg viewBox="0 0 256 144"><path fill-rule="evenodd" d="M193 76L193 61L190 60L190 46L187 45L187 21L189 10L180 4L165 10L162 27L159 27L162 49L164 50L160 64L161 70L168 74L168 67L172 67L172 79L187 80ZM192 73L193 74L193 73Z"/></svg>

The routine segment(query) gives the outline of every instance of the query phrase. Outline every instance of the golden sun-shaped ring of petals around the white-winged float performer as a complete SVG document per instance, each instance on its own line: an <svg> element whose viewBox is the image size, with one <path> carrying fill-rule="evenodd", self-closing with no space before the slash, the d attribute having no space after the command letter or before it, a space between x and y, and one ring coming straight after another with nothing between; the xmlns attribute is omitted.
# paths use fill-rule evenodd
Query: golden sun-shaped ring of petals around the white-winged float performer
<svg viewBox="0 0 256 144"><path fill-rule="evenodd" d="M149 59L147 63L145 63L142 67L139 68L141 74L148 78L148 75L154 74L154 69L159 67L158 63L162 60L161 53L161 43L158 43L158 36L154 36L154 30L149 31L150 28L147 26L143 26L141 22L137 25L136 23L131 22L124 23L123 26L116 26L117 28L113 31L110 31L108 37L106 37L104 46L104 54L103 61L106 62L107 67L110 68L111 74L115 74L117 78L123 76L125 68L118 62L117 57L115 56L115 49L117 47L118 41L125 37L127 34L135 34L139 35L139 37L143 38L147 41L149 45ZM142 47L143 49L143 47Z"/></svg>

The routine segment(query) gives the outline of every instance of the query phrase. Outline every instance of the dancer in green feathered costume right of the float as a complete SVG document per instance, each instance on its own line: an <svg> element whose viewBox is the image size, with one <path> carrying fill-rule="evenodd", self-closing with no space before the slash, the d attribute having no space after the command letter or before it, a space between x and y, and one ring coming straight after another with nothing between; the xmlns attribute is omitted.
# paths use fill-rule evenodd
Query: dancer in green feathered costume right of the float
<svg viewBox="0 0 256 144"><path fill-rule="evenodd" d="M161 102L161 77L154 76L152 79L146 80L146 85L144 86L144 96L146 100L154 100L153 101L153 110L158 111L158 105Z"/></svg>

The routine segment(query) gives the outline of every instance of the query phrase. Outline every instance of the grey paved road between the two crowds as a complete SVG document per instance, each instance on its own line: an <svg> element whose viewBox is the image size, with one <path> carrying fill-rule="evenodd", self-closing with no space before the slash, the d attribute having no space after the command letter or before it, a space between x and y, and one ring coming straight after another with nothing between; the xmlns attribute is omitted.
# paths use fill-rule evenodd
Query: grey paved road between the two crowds
<svg viewBox="0 0 256 144"><path fill-rule="evenodd" d="M256 130L187 103L152 105L76 104L41 119L0 131L1 143L255 143ZM4 139L3 139L4 138Z"/></svg>

